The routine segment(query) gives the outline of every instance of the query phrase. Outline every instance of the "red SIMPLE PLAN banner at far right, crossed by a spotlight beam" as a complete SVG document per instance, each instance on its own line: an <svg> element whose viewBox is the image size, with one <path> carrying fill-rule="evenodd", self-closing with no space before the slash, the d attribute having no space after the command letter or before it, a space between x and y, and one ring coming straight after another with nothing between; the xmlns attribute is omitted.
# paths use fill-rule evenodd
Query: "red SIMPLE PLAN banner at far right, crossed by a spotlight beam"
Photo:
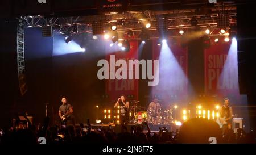
<svg viewBox="0 0 256 155"><path fill-rule="evenodd" d="M218 41L205 49L205 93L239 94L237 41Z"/></svg>

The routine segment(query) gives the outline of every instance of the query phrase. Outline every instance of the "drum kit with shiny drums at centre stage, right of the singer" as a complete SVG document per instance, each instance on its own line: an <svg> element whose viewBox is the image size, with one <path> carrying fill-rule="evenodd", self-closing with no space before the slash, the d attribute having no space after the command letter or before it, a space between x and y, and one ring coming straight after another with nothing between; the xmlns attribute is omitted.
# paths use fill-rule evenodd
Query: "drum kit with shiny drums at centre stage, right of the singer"
<svg viewBox="0 0 256 155"><path fill-rule="evenodd" d="M159 101L159 100L158 100ZM142 124L142 122L147 122L151 124L171 124L172 118L172 107L162 110L160 106L156 108L140 106L140 102L137 100L130 101L130 123L131 124Z"/></svg>

